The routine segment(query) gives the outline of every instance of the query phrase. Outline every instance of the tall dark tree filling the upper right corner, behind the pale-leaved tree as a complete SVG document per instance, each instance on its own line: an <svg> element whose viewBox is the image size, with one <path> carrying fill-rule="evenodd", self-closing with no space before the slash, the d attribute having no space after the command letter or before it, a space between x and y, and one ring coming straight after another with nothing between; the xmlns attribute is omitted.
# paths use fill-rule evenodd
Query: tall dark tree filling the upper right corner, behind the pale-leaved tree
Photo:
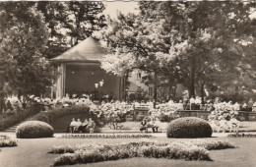
<svg viewBox="0 0 256 167"><path fill-rule="evenodd" d="M165 61L173 55L180 60L179 65L186 66L178 68L180 74L189 79L186 83L189 83L190 96L195 95L196 81L203 89L210 79L210 72L237 73L235 65L249 65L244 57L250 60L254 57L255 60L252 55L242 56L246 55L255 36L255 24L249 17L255 11L255 3L141 2L140 9L148 18L157 15L164 20L162 29L172 34L169 55L162 57L164 66L173 63ZM250 73L253 66L249 67L247 72Z"/></svg>

